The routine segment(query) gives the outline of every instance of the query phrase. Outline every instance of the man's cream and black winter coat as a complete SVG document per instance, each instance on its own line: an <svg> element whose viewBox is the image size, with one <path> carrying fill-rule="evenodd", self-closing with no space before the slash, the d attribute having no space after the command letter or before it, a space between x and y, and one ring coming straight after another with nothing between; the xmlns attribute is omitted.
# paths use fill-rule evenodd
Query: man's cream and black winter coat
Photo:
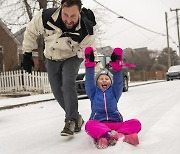
<svg viewBox="0 0 180 154"><path fill-rule="evenodd" d="M95 48L93 26L96 25L91 10L82 8L79 23L73 30L67 30L61 19L61 8L41 10L26 27L23 51L37 48L37 37L43 35L44 55L51 60L65 60L78 56L83 58L84 48Z"/></svg>

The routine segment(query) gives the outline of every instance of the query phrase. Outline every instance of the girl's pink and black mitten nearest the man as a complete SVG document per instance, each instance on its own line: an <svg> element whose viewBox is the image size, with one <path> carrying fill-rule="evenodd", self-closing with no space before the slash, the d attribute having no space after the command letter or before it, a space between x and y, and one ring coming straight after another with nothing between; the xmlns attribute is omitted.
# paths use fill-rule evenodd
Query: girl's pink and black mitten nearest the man
<svg viewBox="0 0 180 154"><path fill-rule="evenodd" d="M96 63L94 62L94 49L92 47L87 47L84 50L85 55L85 67L95 67Z"/></svg>

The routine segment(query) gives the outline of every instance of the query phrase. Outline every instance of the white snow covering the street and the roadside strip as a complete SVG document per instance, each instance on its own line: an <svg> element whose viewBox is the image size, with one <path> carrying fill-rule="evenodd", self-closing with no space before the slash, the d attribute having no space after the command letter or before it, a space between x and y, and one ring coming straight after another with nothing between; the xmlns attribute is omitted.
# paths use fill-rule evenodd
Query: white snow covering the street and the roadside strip
<svg viewBox="0 0 180 154"><path fill-rule="evenodd" d="M180 153L180 80L130 87L122 94L119 110L124 120L137 118L142 123L140 144L118 141L107 149L97 149L82 132L62 137L64 111L52 94L0 100L7 104L42 100L42 103L0 110L0 154L179 154ZM87 121L89 99L79 100L79 111Z"/></svg>

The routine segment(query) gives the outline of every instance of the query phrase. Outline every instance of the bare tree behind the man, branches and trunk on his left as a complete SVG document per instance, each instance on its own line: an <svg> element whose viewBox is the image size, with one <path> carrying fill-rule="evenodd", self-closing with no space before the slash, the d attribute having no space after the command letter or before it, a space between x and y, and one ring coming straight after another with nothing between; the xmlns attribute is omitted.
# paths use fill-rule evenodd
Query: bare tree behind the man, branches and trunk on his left
<svg viewBox="0 0 180 154"><path fill-rule="evenodd" d="M48 6L51 7L55 5L57 1L48 1L48 0L14 0L11 2L10 0L0 0L0 9L4 13L4 21L6 25L10 28L24 27L26 23L28 23L36 13L40 9L46 9ZM40 36L37 40L38 43L38 60L39 60L39 70L45 71L44 66L44 41L43 37Z"/></svg>

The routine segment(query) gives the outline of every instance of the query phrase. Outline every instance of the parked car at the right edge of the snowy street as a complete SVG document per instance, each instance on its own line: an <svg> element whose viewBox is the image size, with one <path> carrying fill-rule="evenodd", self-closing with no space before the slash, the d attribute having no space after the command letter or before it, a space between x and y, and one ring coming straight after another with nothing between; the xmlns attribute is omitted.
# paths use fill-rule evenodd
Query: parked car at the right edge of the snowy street
<svg viewBox="0 0 180 154"><path fill-rule="evenodd" d="M173 80L173 79L180 79L180 65L169 67L166 73L166 79L167 81Z"/></svg>

